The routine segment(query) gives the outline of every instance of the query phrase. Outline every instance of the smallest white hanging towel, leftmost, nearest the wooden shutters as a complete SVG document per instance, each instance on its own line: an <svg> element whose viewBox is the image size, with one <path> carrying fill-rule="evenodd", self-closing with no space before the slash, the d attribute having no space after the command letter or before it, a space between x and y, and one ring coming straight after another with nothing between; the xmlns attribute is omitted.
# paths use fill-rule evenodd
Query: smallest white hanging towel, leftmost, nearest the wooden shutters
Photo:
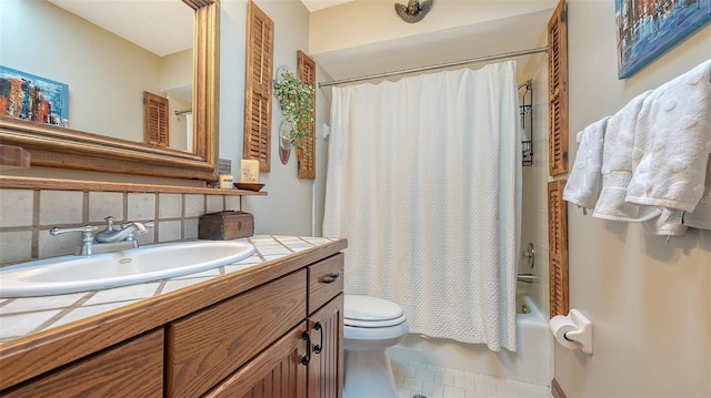
<svg viewBox="0 0 711 398"><path fill-rule="evenodd" d="M590 124L577 135L575 163L565 183L563 200L582 208L594 208L600 196L602 146L608 120L610 116Z"/></svg>

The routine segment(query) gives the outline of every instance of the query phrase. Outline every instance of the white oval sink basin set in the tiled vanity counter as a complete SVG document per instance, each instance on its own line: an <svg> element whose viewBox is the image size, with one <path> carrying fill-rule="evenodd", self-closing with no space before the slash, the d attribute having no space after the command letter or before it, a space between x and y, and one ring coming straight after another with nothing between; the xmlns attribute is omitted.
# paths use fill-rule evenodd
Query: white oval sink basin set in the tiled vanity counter
<svg viewBox="0 0 711 398"><path fill-rule="evenodd" d="M90 257L62 256L0 268L0 297L48 296L103 289L193 274L254 253L246 242L158 244Z"/></svg>

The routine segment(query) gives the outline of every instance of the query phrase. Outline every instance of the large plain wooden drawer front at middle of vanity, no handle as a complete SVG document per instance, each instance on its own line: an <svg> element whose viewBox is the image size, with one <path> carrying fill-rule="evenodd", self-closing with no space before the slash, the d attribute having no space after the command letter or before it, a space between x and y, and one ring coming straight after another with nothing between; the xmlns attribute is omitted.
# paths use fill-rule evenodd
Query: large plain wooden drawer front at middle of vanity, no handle
<svg viewBox="0 0 711 398"><path fill-rule="evenodd" d="M306 269L168 326L168 397L198 397L306 316Z"/></svg>

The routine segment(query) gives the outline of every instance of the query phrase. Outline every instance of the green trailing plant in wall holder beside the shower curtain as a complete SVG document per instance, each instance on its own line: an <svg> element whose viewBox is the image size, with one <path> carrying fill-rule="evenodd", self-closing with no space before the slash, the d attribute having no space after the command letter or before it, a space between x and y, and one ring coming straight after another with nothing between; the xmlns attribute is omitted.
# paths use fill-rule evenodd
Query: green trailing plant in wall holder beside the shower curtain
<svg viewBox="0 0 711 398"><path fill-rule="evenodd" d="M313 89L294 73L284 72L274 80L274 93L290 126L289 143L311 155L307 140L311 136L313 123Z"/></svg>

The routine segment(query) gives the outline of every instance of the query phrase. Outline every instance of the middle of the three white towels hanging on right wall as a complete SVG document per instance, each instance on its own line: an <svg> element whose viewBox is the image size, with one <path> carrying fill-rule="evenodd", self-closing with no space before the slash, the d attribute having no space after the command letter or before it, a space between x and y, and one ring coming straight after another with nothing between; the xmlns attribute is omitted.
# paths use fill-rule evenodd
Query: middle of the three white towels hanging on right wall
<svg viewBox="0 0 711 398"><path fill-rule="evenodd" d="M602 149L602 190L595 203L593 217L642 222L661 214L657 207L624 202L628 184L632 180L637 116L651 92L650 90L635 96L608 121Z"/></svg>

